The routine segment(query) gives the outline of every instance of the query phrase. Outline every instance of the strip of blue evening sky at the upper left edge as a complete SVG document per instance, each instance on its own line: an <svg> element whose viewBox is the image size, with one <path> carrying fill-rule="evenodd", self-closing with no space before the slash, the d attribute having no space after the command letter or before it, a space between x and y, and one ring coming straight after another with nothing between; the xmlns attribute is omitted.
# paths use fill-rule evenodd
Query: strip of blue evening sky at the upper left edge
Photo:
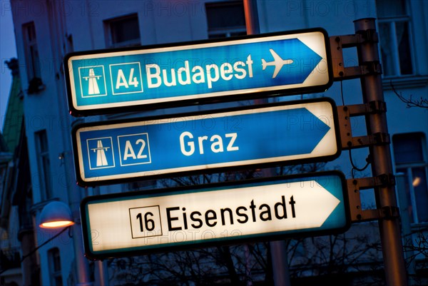
<svg viewBox="0 0 428 286"><path fill-rule="evenodd" d="M9 0L0 0L0 128L3 129L3 118L11 90L11 70L4 61L16 57L14 24Z"/></svg>

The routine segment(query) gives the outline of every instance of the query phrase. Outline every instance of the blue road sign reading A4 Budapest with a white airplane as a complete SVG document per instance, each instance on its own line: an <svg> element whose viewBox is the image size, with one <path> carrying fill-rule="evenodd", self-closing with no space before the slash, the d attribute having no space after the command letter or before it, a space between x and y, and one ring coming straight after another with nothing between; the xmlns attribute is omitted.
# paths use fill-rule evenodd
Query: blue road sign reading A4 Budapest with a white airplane
<svg viewBox="0 0 428 286"><path fill-rule="evenodd" d="M325 91L332 83L323 29L174 46L68 54L73 115ZM255 93L258 93L257 95Z"/></svg>

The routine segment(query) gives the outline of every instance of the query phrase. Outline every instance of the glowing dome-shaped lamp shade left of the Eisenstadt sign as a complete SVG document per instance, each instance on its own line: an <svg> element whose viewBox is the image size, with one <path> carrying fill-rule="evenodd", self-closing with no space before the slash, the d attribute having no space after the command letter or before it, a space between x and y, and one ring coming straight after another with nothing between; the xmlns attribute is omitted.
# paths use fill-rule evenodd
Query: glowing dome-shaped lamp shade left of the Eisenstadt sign
<svg viewBox="0 0 428 286"><path fill-rule="evenodd" d="M41 228L61 228L73 224L71 210L65 203L54 201L41 210L39 225Z"/></svg>

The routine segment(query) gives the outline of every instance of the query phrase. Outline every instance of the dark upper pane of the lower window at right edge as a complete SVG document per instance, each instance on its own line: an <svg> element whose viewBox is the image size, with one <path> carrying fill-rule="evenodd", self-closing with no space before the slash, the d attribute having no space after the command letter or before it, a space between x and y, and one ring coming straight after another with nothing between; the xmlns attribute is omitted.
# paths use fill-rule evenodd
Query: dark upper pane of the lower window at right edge
<svg viewBox="0 0 428 286"><path fill-rule="evenodd" d="M392 138L395 163L420 163L424 161L422 153L422 134L400 134Z"/></svg>

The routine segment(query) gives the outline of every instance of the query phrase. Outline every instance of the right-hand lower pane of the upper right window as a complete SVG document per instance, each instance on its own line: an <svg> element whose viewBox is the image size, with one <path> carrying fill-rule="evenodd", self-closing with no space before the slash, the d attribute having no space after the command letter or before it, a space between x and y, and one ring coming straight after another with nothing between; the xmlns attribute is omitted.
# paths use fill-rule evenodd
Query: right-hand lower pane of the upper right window
<svg viewBox="0 0 428 286"><path fill-rule="evenodd" d="M409 23L396 22L399 67L401 74L412 74L412 58L410 57Z"/></svg>

